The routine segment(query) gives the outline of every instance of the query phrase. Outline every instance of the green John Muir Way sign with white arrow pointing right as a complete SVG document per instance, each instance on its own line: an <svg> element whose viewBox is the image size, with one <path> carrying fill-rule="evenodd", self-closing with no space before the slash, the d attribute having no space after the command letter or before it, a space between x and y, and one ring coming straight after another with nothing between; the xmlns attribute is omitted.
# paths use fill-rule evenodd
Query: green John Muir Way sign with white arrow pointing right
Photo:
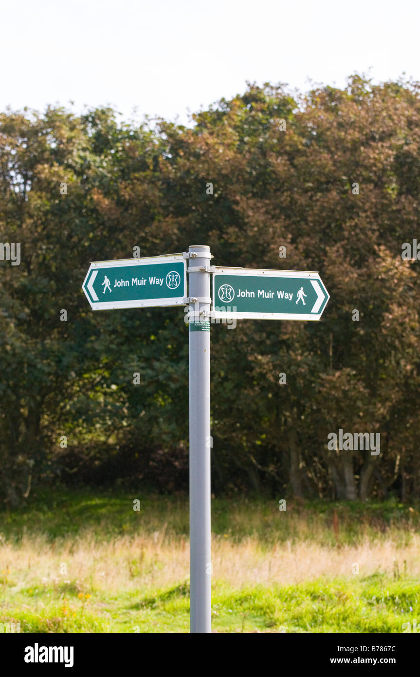
<svg viewBox="0 0 420 677"><path fill-rule="evenodd" d="M319 320L329 293L317 272L214 267L212 317Z"/></svg>

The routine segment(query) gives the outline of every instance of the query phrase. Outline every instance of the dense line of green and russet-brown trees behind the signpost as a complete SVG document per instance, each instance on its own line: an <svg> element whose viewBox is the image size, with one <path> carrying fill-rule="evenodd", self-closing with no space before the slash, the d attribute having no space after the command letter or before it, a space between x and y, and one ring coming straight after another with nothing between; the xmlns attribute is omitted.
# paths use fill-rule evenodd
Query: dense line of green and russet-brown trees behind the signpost
<svg viewBox="0 0 420 677"><path fill-rule="evenodd" d="M189 126L0 114L7 505L55 481L187 488L183 308L92 312L81 285L90 261L189 244L216 265L318 270L331 295L321 322L212 326L213 490L419 498L415 243L402 255L419 234L419 87L249 83ZM379 433L380 454L329 448L340 429Z"/></svg>

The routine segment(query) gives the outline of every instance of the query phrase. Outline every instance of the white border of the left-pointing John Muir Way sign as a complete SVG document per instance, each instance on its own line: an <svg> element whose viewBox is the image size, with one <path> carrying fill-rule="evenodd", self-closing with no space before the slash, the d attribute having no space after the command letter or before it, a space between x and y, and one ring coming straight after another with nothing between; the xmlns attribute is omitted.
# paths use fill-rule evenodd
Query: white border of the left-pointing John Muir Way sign
<svg viewBox="0 0 420 677"><path fill-rule="evenodd" d="M168 254L155 257L143 257L139 259L115 259L114 261L91 261L89 265L89 270L87 271L85 280L83 280L82 290L85 294L85 297L89 301L89 305L92 310L114 310L118 308L152 308L152 307L168 307L168 306L178 306L178 305L188 305L185 303L184 299L187 294L183 294L180 297L170 297L162 299L142 299L141 301L100 301L95 302L89 299L89 296L85 292L85 285L87 280L93 270L99 270L101 268L118 268L118 267L129 267L129 266L138 266L138 265L156 265L157 263L179 263L183 261L184 264L184 286L183 290L187 292L187 259L183 257L183 254Z"/></svg>

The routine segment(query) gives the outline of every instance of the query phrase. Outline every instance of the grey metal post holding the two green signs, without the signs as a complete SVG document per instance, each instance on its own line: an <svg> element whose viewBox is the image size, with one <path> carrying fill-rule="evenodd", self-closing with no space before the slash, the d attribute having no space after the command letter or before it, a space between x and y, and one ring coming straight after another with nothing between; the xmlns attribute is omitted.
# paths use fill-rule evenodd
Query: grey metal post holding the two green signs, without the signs
<svg viewBox="0 0 420 677"><path fill-rule="evenodd" d="M195 255L195 256L193 256ZM210 524L210 247L189 246L189 582L190 632L211 632ZM195 302L193 299L199 299ZM197 315L206 313L206 322ZM206 316L204 315L204 316Z"/></svg>

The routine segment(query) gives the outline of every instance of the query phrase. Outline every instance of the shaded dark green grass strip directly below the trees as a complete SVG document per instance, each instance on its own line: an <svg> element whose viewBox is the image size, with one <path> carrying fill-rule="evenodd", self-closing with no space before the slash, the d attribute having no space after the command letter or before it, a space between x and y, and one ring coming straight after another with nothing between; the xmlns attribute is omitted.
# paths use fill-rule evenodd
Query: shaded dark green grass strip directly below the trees
<svg viewBox="0 0 420 677"><path fill-rule="evenodd" d="M0 539L20 542L27 534L42 533L49 543L78 538L89 533L99 540L116 536L135 536L141 530L148 536L166 525L175 540L188 538L188 496L162 496L141 493L141 510L133 510L136 492L127 494L114 489L42 489L34 492L30 505L22 505L1 515ZM401 544L410 542L411 533L420 529L420 504L406 506L395 500L336 501L323 499L287 501L287 510L279 510L278 498L212 499L212 532L220 539L235 543L257 538L262 548L276 543L302 540L323 547L337 542L334 515L340 546L357 546L364 540L381 540L389 533L400 535ZM286 519L284 519L286 518Z"/></svg>

